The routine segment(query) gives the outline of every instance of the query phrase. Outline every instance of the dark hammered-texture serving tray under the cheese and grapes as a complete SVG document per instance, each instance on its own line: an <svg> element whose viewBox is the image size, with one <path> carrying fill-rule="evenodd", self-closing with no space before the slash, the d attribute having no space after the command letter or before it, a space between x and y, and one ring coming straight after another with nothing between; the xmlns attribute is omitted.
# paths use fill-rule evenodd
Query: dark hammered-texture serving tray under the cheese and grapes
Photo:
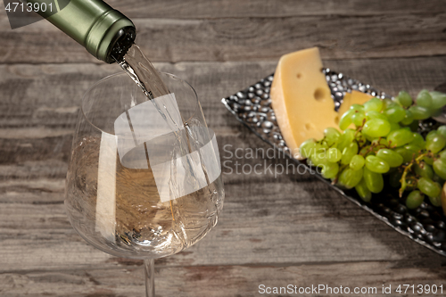
<svg viewBox="0 0 446 297"><path fill-rule="evenodd" d="M343 73L329 69L324 69L323 72L326 75L327 84L335 101L336 110L341 105L345 92L351 92L351 90L376 95L381 98L391 97L375 87L363 84L356 79L345 77ZM221 102L225 104L227 110L237 120L250 128L261 140L272 145L275 149L283 151L293 161L303 164L310 170L314 170L305 161L294 159L282 138L274 110L271 107L271 99L269 98L269 89L273 77L274 74L269 75L251 87L247 87L235 95L223 98ZM429 130L435 124L434 120L425 121L420 124L420 132ZM367 210L376 218L393 227L402 235L406 235L426 248L446 256L446 218L442 214L441 208L434 207L430 202L423 202L417 210L408 210L404 202L398 198L396 191L393 192L389 188L384 188L384 191L380 194L374 194L371 202L363 202L356 194L356 191L344 191L337 186L333 186L330 180L320 176L317 172L315 172L315 176L351 202L356 203L362 209Z"/></svg>

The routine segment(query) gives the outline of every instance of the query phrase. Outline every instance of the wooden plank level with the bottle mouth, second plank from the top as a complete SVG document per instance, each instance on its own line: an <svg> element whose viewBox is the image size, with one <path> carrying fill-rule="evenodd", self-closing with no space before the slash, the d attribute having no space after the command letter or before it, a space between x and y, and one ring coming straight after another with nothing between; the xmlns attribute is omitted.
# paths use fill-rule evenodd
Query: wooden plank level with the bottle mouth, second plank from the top
<svg viewBox="0 0 446 297"><path fill-rule="evenodd" d="M136 43L154 62L223 62L276 61L312 46L328 60L442 55L444 18L433 12L134 21ZM11 30L6 19L0 20L0 42L1 63L98 62L46 21Z"/></svg>

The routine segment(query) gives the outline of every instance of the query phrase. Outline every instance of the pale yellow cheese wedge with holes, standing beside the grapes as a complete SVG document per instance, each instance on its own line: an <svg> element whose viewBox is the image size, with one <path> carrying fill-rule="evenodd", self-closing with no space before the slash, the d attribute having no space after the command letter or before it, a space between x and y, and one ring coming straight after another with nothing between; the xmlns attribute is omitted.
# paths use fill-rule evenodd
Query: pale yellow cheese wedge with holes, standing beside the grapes
<svg viewBox="0 0 446 297"><path fill-rule="evenodd" d="M302 142L309 138L321 139L328 127L338 128L342 113L335 111L317 47L280 58L270 97L282 136L295 158L300 158ZM350 95L342 110L368 99Z"/></svg>

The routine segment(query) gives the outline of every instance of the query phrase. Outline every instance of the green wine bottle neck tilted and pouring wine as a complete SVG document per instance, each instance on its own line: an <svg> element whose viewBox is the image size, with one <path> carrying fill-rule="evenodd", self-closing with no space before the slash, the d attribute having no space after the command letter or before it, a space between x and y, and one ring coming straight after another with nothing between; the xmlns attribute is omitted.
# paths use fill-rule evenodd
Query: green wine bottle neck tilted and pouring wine
<svg viewBox="0 0 446 297"><path fill-rule="evenodd" d="M68 3L62 9L59 9L58 0L28 0L27 3L54 3L57 12L46 10L38 13L97 59L108 63L122 61L135 41L133 22L102 0L65 1Z"/></svg>

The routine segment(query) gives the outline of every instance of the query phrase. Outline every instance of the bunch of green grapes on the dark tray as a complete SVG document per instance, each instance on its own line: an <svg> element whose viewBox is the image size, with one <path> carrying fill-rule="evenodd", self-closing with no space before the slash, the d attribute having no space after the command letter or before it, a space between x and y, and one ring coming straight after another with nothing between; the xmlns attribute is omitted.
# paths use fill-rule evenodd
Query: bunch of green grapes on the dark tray
<svg viewBox="0 0 446 297"><path fill-rule="evenodd" d="M339 128L326 128L324 138L301 144L300 153L310 165L321 169L323 177L342 188L355 188L369 202L372 193L384 188L384 177L400 188L409 209L417 208L428 196L441 206L446 180L446 126L423 138L417 133L419 120L441 113L446 95L422 90L416 102L401 91L394 99L372 98L353 104ZM354 128L350 128L353 127Z"/></svg>

